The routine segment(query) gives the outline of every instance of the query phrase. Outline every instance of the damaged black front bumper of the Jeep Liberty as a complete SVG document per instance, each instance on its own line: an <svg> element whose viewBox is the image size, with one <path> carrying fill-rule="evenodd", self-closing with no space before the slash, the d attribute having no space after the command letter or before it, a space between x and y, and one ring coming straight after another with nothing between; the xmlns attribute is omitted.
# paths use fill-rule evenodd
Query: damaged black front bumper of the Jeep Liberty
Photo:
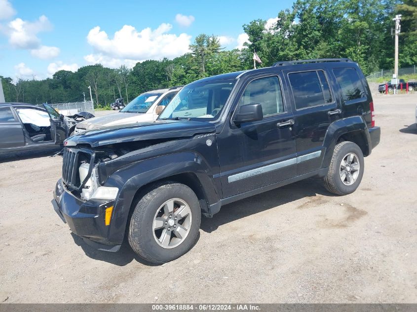
<svg viewBox="0 0 417 312"><path fill-rule="evenodd" d="M120 244L109 240L110 225L105 225L105 210L114 206L114 201L89 200L76 198L58 180L52 206L71 231L96 249L118 251Z"/></svg>

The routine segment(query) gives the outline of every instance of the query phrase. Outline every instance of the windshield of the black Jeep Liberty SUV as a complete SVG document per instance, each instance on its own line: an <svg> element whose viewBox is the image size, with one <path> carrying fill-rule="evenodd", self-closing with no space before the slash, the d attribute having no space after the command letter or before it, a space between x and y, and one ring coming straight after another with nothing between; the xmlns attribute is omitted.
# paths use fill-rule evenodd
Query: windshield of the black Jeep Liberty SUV
<svg viewBox="0 0 417 312"><path fill-rule="evenodd" d="M214 120L226 104L235 80L201 82L185 86L158 119L204 118Z"/></svg>

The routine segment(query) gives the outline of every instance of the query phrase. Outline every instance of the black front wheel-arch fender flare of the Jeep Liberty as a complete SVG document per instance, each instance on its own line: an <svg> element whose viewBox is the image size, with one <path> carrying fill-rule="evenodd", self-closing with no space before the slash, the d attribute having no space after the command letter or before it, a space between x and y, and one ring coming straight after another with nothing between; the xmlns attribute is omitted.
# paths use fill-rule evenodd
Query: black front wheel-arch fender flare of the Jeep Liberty
<svg viewBox="0 0 417 312"><path fill-rule="evenodd" d="M213 173L198 153L178 152L133 163L113 173L105 183L105 186L115 186L120 190L114 204L109 240L122 243L130 207L141 187L181 173L195 174L209 205L220 200Z"/></svg>

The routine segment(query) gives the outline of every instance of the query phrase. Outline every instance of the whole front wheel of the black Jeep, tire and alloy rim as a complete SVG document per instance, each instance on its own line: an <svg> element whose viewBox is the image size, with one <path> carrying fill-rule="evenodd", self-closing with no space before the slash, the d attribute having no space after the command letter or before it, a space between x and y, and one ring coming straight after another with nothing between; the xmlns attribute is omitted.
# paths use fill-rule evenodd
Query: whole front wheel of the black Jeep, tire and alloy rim
<svg viewBox="0 0 417 312"><path fill-rule="evenodd" d="M195 193L187 185L163 182L137 202L128 241L143 259L161 264L190 250L200 222L200 204Z"/></svg>

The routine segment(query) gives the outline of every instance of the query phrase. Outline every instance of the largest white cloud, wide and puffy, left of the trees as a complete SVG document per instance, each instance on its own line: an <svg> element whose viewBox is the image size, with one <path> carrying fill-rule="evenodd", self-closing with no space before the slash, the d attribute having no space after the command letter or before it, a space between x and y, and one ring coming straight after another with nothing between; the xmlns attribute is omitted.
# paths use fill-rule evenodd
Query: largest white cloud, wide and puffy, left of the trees
<svg viewBox="0 0 417 312"><path fill-rule="evenodd" d="M160 60L164 57L174 58L190 52L191 36L187 34L169 34L171 24L162 23L155 30L145 28L140 32L133 26L124 25L114 33L113 38L100 30L99 26L90 30L87 42L95 53L86 55L84 59L95 64L117 67L117 64L144 60Z"/></svg>

